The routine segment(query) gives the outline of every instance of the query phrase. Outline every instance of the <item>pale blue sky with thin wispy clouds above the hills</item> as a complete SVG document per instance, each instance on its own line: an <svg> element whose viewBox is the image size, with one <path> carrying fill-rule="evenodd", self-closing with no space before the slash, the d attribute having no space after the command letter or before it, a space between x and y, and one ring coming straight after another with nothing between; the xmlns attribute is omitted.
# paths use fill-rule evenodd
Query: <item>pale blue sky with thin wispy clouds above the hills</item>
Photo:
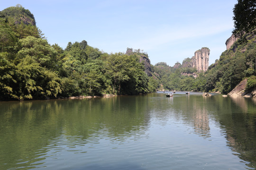
<svg viewBox="0 0 256 170"><path fill-rule="evenodd" d="M151 64L174 66L202 47L209 65L234 28L237 0L0 0L0 10L22 5L50 44L82 42L107 53L147 52Z"/></svg>

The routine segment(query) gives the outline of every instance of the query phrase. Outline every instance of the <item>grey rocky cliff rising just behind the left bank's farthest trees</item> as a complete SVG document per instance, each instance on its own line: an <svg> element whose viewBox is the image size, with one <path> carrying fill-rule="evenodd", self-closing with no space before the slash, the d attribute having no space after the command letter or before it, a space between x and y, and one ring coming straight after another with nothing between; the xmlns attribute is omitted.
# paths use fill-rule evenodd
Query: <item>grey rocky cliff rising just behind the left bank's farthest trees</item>
<svg viewBox="0 0 256 170"><path fill-rule="evenodd" d="M126 55L136 54L139 57L139 62L144 63L145 72L146 72L147 76L153 76L152 75L152 70L151 70L151 65L150 65L150 59L148 59L147 54L134 53L132 49L127 49L125 54Z"/></svg>

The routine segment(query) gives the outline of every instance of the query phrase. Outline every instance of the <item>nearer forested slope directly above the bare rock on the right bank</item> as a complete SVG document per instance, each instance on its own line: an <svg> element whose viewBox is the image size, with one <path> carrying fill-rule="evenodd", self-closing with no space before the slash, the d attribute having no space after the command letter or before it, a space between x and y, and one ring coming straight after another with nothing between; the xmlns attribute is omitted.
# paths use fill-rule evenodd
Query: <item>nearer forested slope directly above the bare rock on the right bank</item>
<svg viewBox="0 0 256 170"><path fill-rule="evenodd" d="M219 60L206 72L206 91L229 93L243 79L247 78L247 90L256 87L256 36L246 34L246 42L241 39L224 51Z"/></svg>

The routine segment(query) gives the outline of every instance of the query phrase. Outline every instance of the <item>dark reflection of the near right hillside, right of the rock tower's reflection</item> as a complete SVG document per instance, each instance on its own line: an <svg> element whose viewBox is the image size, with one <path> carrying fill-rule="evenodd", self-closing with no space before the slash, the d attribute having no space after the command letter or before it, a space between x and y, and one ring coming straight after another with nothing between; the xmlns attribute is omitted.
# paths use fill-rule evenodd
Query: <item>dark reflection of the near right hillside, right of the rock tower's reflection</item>
<svg viewBox="0 0 256 170"><path fill-rule="evenodd" d="M247 161L249 168L256 169L256 105L253 98L213 97L215 110L214 117L218 118L227 145L235 155ZM214 110L214 108L210 108Z"/></svg>

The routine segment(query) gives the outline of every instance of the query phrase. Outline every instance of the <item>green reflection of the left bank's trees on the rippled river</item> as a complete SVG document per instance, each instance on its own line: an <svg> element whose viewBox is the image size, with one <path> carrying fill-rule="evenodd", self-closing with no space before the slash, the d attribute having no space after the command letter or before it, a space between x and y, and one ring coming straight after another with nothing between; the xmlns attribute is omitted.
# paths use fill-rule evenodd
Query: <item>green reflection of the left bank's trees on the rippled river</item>
<svg viewBox="0 0 256 170"><path fill-rule="evenodd" d="M125 98L1 102L2 168L40 167L46 154L85 153L82 145L89 144L89 148L103 138L118 144L127 138L139 140L149 121L146 104L141 106L140 98L122 100Z"/></svg>

